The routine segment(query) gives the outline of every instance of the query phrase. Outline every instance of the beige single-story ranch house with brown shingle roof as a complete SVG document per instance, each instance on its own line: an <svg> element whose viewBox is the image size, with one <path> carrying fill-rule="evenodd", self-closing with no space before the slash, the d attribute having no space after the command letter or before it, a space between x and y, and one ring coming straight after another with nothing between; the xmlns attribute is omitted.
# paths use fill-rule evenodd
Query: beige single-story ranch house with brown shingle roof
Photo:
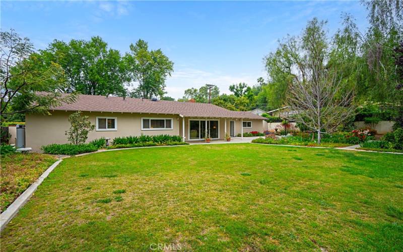
<svg viewBox="0 0 403 252"><path fill-rule="evenodd" d="M40 151L42 145L66 143L68 117L78 110L95 125L88 141L141 134L179 135L185 141L200 141L206 128L213 140L224 139L226 133L236 136L265 129L262 116L208 103L78 95L74 103L50 108L51 115L26 114L26 146Z"/></svg>

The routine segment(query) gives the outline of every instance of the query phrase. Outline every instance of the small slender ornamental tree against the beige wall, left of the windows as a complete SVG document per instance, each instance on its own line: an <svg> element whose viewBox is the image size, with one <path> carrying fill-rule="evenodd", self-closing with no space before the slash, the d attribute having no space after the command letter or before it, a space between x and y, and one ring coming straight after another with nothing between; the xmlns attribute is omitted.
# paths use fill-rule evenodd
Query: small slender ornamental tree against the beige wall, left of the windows
<svg viewBox="0 0 403 252"><path fill-rule="evenodd" d="M81 116L81 111L77 111L69 116L71 124L70 129L65 135L70 143L78 145L84 144L88 138L88 133L95 129L95 125L91 124L88 116Z"/></svg>

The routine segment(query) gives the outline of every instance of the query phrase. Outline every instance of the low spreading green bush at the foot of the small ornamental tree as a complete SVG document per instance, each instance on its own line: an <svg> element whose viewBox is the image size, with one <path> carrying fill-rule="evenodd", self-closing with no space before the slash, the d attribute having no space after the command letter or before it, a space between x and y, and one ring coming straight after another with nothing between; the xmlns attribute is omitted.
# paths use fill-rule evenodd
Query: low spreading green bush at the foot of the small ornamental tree
<svg viewBox="0 0 403 252"><path fill-rule="evenodd" d="M81 153L94 152L98 148L92 144L50 144L41 147L47 154L55 155L77 155Z"/></svg>

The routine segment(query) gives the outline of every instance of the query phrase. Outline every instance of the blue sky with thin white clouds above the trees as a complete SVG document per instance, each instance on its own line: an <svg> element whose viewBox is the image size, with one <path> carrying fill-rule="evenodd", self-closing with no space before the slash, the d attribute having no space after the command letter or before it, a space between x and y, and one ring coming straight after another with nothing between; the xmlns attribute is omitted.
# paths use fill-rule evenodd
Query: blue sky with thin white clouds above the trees
<svg viewBox="0 0 403 252"><path fill-rule="evenodd" d="M123 54L138 39L161 48L174 62L169 96L182 97L206 83L229 93L233 83L266 78L263 57L287 34L298 35L313 17L328 21L329 34L351 13L363 30L359 2L8 2L1 1L1 28L29 37L37 49L53 39L101 36Z"/></svg>

